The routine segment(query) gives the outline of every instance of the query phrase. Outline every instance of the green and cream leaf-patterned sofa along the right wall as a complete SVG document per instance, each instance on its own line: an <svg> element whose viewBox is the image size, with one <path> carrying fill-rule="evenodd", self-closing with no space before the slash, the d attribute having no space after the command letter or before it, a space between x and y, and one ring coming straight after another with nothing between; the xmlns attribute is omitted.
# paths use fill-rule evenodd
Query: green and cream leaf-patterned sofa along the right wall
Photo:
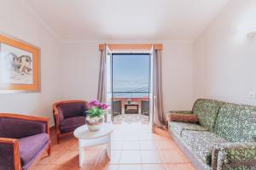
<svg viewBox="0 0 256 170"><path fill-rule="evenodd" d="M256 170L256 106L197 99L198 123L169 121L169 132L196 169Z"/></svg>

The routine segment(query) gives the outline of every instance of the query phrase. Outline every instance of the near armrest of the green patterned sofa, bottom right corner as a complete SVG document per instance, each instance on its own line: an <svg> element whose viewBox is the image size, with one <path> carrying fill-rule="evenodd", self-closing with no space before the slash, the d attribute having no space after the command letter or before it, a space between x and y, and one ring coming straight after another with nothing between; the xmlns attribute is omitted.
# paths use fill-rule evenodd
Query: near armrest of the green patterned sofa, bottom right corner
<svg viewBox="0 0 256 170"><path fill-rule="evenodd" d="M212 170L256 168L256 142L216 144L212 150Z"/></svg>

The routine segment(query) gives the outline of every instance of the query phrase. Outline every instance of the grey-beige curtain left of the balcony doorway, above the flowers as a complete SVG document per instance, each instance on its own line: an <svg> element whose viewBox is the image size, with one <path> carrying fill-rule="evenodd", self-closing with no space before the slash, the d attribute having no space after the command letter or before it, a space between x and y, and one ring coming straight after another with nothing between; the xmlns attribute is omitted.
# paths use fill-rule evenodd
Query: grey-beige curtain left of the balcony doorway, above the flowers
<svg viewBox="0 0 256 170"><path fill-rule="evenodd" d="M101 50L101 62L100 62L100 75L98 84L97 99L100 102L106 103L107 99L107 45Z"/></svg>

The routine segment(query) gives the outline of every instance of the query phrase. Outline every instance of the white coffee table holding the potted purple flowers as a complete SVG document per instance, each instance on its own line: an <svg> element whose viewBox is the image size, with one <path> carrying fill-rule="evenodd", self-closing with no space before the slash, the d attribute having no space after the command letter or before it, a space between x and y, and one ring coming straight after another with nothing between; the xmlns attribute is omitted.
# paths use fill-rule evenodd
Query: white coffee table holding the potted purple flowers
<svg viewBox="0 0 256 170"><path fill-rule="evenodd" d="M111 122L104 122L102 129L90 132L87 125L83 125L74 130L73 135L79 139L79 167L82 167L84 159L84 148L99 144L107 144L107 155L111 159L111 133L113 125Z"/></svg>

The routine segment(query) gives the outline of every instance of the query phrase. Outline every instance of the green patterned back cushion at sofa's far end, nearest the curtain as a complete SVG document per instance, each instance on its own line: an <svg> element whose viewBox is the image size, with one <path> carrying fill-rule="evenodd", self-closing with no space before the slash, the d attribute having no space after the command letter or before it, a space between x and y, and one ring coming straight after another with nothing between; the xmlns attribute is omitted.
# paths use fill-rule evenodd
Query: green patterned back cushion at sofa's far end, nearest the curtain
<svg viewBox="0 0 256 170"><path fill-rule="evenodd" d="M218 111L224 102L214 99L197 99L193 106L193 113L198 117L202 127L213 131Z"/></svg>

